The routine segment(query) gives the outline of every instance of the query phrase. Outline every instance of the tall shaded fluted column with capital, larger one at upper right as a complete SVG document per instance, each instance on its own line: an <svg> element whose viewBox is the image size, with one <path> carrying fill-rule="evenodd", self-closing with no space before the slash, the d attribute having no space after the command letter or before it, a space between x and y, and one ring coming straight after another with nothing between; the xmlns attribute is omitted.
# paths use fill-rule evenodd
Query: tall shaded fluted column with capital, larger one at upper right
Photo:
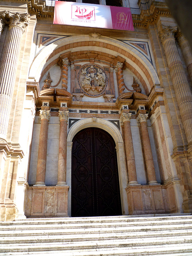
<svg viewBox="0 0 192 256"><path fill-rule="evenodd" d="M186 138L188 140L188 147L190 148L192 147L192 94L177 50L174 38L176 30L176 27L162 27L160 37L162 39L168 67L172 77L176 99L180 109Z"/></svg>

